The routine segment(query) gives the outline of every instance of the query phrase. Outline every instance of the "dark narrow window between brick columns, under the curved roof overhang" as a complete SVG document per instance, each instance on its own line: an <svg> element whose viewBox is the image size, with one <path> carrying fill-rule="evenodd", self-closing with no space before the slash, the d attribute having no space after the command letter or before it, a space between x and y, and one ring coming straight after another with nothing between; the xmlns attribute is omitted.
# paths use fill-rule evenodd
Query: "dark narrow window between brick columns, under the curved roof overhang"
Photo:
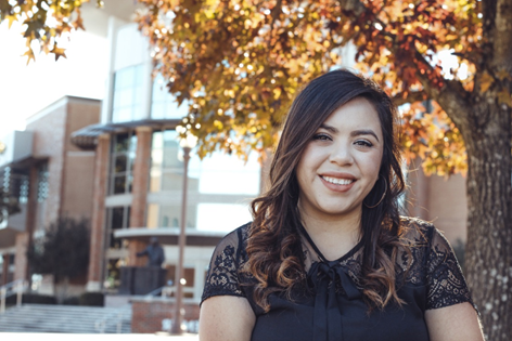
<svg viewBox="0 0 512 341"><path fill-rule="evenodd" d="M112 141L110 194L131 193L137 135L133 132L114 135Z"/></svg>

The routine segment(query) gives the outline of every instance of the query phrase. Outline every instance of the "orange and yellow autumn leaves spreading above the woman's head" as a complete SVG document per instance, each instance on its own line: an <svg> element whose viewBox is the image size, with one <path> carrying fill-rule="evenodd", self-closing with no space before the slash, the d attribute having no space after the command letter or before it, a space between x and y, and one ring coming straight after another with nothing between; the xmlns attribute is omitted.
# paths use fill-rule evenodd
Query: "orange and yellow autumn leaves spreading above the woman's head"
<svg viewBox="0 0 512 341"><path fill-rule="evenodd" d="M349 63L340 61L341 49L355 45L358 69L372 75L397 104L414 104L404 113L409 158L414 153L427 160L428 173L465 170L458 129L438 105L419 115L419 103L427 97L425 87L440 89L449 78L473 87L474 75L464 80L455 71L444 75L436 52L473 56L478 51L476 3L140 2L148 11L139 13L138 23L154 47L155 69L178 101L189 103L182 126L200 137L201 156L272 147L296 91L340 62ZM474 69L468 58L459 62Z"/></svg>

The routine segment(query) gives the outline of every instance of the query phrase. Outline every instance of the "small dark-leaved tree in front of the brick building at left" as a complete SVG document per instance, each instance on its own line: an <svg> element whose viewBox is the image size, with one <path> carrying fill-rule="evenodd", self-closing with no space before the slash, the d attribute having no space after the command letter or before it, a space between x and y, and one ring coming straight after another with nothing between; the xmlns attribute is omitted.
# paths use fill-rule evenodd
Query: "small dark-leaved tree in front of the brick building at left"
<svg viewBox="0 0 512 341"><path fill-rule="evenodd" d="M44 237L27 250L33 274L52 275L53 289L62 302L69 279L87 273L89 265L89 222L61 217L50 224ZM62 285L62 290L57 286Z"/></svg>

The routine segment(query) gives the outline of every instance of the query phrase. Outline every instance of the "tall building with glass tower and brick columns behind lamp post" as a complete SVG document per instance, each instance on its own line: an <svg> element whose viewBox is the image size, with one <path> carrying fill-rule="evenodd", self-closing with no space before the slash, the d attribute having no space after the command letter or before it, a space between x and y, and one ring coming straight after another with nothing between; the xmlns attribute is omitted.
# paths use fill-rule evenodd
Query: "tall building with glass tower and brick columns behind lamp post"
<svg viewBox="0 0 512 341"><path fill-rule="evenodd" d="M115 289L119 267L143 265L136 253L158 237L174 280L183 182L182 150L175 130L188 115L158 78L152 79L149 44L135 24L111 18L111 69L101 122L72 134L95 150L91 261L87 290ZM216 153L189 166L185 249L187 297L199 302L213 248L251 220L248 202L260 191L257 155L246 165Z"/></svg>

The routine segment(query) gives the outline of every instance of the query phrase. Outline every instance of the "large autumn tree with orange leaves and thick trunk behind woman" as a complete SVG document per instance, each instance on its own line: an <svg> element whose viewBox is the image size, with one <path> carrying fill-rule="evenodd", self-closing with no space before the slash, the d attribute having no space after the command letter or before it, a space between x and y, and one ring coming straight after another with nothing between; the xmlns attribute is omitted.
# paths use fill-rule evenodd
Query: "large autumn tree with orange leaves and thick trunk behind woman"
<svg viewBox="0 0 512 341"><path fill-rule="evenodd" d="M182 126L201 156L271 147L297 89L354 45L356 67L408 104L407 157L423 157L428 172L468 171L466 278L488 339L512 335L510 1L139 2L155 70L190 105ZM457 67L441 68L443 50Z"/></svg>

